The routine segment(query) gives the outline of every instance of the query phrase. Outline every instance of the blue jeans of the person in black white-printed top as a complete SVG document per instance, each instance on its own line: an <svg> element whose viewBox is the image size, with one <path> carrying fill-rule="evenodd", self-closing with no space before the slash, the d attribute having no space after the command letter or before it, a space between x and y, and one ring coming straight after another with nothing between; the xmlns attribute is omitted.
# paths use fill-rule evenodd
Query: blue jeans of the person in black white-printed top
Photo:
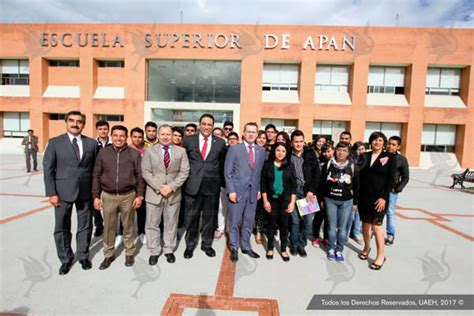
<svg viewBox="0 0 474 316"><path fill-rule="evenodd" d="M330 198L324 199L328 214L328 239L329 250L342 252L347 237L347 222L352 212L352 199L338 201Z"/></svg>

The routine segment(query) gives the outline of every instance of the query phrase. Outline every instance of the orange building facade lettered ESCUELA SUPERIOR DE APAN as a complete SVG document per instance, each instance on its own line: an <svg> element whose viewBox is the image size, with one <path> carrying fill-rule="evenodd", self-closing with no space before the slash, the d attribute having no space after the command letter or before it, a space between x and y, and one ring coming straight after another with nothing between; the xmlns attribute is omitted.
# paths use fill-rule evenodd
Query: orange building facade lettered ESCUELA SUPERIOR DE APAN
<svg viewBox="0 0 474 316"><path fill-rule="evenodd" d="M273 123L337 139L350 130L453 152L473 167L473 30L267 25L0 24L3 139L47 139L64 114L129 128ZM1 141L1 140L0 140ZM1 143L1 142L0 142Z"/></svg>

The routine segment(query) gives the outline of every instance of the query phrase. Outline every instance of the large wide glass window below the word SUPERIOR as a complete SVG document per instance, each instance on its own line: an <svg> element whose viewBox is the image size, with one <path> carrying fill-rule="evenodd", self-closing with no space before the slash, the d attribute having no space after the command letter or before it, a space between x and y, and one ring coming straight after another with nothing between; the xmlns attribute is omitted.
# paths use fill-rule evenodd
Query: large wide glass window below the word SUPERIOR
<svg viewBox="0 0 474 316"><path fill-rule="evenodd" d="M148 101L240 103L240 61L150 60Z"/></svg>

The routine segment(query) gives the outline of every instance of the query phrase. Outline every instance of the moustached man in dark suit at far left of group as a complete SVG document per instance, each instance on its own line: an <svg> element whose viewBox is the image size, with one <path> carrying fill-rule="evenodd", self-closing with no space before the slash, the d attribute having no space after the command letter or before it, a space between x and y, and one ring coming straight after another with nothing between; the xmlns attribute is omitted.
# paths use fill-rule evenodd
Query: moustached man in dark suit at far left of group
<svg viewBox="0 0 474 316"><path fill-rule="evenodd" d="M97 151L94 139L81 135L86 116L79 111L66 114L67 133L51 138L44 153L44 185L49 203L54 206L54 240L61 268L66 274L72 266L72 207L77 212L77 256L84 270L92 267L89 244L92 235L92 171Z"/></svg>

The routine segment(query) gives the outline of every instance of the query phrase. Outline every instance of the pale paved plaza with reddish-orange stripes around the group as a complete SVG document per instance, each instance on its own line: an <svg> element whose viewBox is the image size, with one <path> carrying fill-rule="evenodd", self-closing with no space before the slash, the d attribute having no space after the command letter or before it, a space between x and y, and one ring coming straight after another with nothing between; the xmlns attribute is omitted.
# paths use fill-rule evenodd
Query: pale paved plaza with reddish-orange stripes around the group
<svg viewBox="0 0 474 316"><path fill-rule="evenodd" d="M92 270L76 262L58 275L53 240L54 212L44 196L41 170L27 174L22 155L0 156L0 312L32 315L322 315L307 310L316 294L473 294L474 195L451 190L450 174L460 172L433 155L432 167L411 169L411 181L397 205L395 244L386 248L380 271L357 258L361 246L352 240L345 263L328 262L323 249L307 247L308 257L239 254L228 259L225 240L215 242L215 258L196 250L174 264L160 257L148 265L146 246L137 243L136 263L125 267L123 248L105 271L101 238L91 244ZM41 169L41 168L40 168ZM466 183L466 187L474 184ZM75 214L75 213L74 213ZM73 216L73 230L75 229ZM373 241L374 242L374 241ZM375 244L372 245L375 248ZM73 244L75 249L75 244ZM345 314L428 314L425 311L334 311ZM444 314L447 311L439 311ZM472 315L472 311L450 314Z"/></svg>

